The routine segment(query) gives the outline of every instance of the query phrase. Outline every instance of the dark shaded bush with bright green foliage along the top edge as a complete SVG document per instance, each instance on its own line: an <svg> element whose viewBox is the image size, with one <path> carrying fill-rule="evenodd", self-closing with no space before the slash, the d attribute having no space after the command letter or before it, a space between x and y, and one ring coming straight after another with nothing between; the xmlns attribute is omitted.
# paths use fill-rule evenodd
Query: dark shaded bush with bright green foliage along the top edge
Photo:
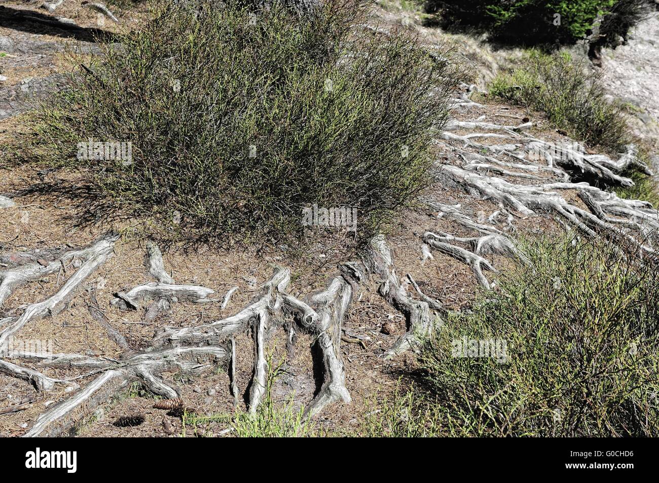
<svg viewBox="0 0 659 483"><path fill-rule="evenodd" d="M430 0L445 25L474 26L494 40L523 45L573 43L602 18L604 35L625 36L650 0ZM556 17L559 14L560 17Z"/></svg>

